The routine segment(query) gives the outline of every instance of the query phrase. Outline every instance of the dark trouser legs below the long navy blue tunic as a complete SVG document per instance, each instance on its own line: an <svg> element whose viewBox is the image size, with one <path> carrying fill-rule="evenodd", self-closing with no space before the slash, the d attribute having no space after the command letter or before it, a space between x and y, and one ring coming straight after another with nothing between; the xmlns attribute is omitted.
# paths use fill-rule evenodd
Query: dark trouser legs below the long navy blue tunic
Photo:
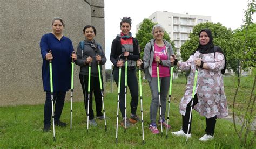
<svg viewBox="0 0 256 149"><path fill-rule="evenodd" d="M53 104L55 103L54 119L59 120L62 115L66 92L58 91L53 92ZM54 106L54 105L53 105ZM46 100L44 104L44 125L51 125L51 92L46 91Z"/></svg>

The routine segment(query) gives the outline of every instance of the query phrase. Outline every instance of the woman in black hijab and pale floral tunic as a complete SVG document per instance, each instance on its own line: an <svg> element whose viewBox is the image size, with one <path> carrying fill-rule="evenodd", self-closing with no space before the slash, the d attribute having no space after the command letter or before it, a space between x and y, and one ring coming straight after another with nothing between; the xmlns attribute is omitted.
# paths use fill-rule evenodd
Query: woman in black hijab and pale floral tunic
<svg viewBox="0 0 256 149"><path fill-rule="evenodd" d="M173 61L174 59L171 58L171 62ZM190 70L190 75L188 76L185 94L180 102L182 129L172 132L172 134L187 137L194 74L196 67L199 67L197 86L194 92L196 94L192 107L199 112L199 115L206 118L206 134L199 140L213 139L216 119L227 117L228 109L221 74L221 70L225 68L225 56L220 47L214 52L213 37L209 29L203 29L199 32L199 46L194 55L191 55L186 62L179 61L177 66L180 70ZM191 124L188 137L191 137Z"/></svg>

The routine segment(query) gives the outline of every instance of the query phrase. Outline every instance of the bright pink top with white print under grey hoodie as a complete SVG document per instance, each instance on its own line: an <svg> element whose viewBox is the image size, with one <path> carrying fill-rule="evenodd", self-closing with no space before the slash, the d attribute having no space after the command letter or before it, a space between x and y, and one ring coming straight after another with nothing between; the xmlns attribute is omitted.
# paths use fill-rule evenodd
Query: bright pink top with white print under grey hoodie
<svg viewBox="0 0 256 149"><path fill-rule="evenodd" d="M152 77L157 77L157 63L154 61L156 56L160 57L161 60L168 60L167 51L165 49L165 45L163 47L157 46L154 44L154 59L152 62ZM169 67L162 66L159 64L159 77L167 77L170 76Z"/></svg>

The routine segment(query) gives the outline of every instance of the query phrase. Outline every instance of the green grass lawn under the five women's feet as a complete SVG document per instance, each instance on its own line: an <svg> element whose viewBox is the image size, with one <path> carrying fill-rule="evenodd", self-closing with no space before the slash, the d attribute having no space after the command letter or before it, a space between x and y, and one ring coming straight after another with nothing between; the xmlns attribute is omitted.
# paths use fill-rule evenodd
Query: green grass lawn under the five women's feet
<svg viewBox="0 0 256 149"><path fill-rule="evenodd" d="M172 101L170 109L171 131L180 130L181 115L178 104L184 94L185 84L176 83L174 80ZM232 92L232 86L225 87L225 91ZM56 141L53 141L52 130L43 132L43 107L44 105L21 105L17 107L0 108L0 148L240 148L237 134L231 122L218 119L215 128L215 139L202 143L199 138L203 136L206 127L205 118L193 112L192 138L186 143L186 138L171 135L166 139L166 130L161 135L153 135L148 129L150 123L149 108L151 93L146 81L143 81L143 111L144 111L144 137L142 145L142 124L136 124L124 132L123 127L118 127L118 144L116 138L117 93L116 85L111 93L110 83L106 83L104 98L107 119L105 132L104 120L96 119L97 127L89 127L86 131L86 113L83 102L73 103L73 123L70 130L70 99L64 105L61 120L68 124L67 127L56 128ZM230 96L229 94L227 97ZM74 93L76 98L76 93ZM44 98L44 97L42 97ZM130 113L130 96L127 96L127 113ZM93 107L95 109L95 103ZM140 101L137 114L140 114ZM120 115L120 111L119 111ZM166 110L167 115L167 110ZM256 145L253 146L255 148Z"/></svg>

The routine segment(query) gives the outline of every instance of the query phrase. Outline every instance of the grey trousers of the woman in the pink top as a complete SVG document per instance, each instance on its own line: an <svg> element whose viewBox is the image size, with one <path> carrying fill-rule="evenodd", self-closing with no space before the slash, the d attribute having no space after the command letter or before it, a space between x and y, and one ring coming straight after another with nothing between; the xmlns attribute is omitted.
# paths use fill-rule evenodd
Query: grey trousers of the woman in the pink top
<svg viewBox="0 0 256 149"><path fill-rule="evenodd" d="M166 98L170 86L170 77L160 77L160 98L161 98L161 115L162 119L165 119L166 111ZM152 100L150 104L150 121L151 123L156 123L157 110L159 108L159 95L158 95L158 84L157 77L152 77L152 80L149 82L151 89ZM160 111L159 111L160 112ZM160 120L160 117L159 117Z"/></svg>

